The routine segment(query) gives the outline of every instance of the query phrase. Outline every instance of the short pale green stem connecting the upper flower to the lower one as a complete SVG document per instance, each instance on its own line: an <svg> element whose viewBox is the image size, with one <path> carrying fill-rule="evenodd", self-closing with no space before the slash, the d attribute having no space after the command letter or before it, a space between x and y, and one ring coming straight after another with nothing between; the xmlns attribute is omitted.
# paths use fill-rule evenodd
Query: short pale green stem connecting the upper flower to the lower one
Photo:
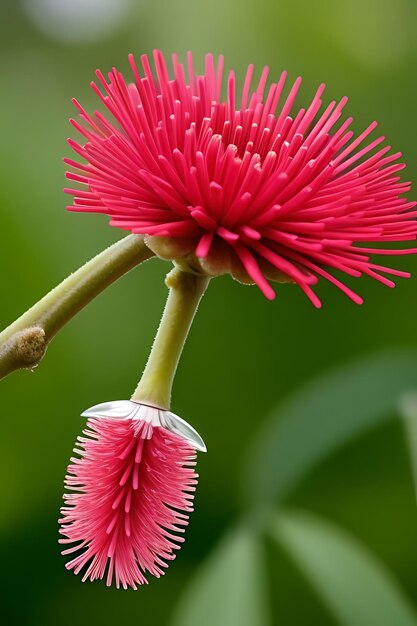
<svg viewBox="0 0 417 626"><path fill-rule="evenodd" d="M178 361L209 278L176 266L167 276L168 300L134 402L169 409Z"/></svg>

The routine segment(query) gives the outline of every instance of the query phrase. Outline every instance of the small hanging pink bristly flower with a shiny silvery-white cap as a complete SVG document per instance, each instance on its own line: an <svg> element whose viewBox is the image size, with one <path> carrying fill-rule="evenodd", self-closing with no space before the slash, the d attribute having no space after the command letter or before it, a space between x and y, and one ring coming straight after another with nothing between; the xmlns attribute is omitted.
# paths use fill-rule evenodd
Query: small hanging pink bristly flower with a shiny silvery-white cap
<svg viewBox="0 0 417 626"><path fill-rule="evenodd" d="M92 407L65 478L60 539L67 569L119 588L159 578L193 510L196 431L169 411L131 401Z"/></svg>

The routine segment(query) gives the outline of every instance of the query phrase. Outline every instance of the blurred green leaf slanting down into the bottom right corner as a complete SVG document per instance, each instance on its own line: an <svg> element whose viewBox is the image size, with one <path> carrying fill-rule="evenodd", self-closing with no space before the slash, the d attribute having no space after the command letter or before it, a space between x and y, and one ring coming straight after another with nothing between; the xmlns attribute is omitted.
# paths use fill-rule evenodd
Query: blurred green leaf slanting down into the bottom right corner
<svg viewBox="0 0 417 626"><path fill-rule="evenodd" d="M343 626L416 626L408 598L386 567L345 531L302 512L281 513L273 536Z"/></svg>

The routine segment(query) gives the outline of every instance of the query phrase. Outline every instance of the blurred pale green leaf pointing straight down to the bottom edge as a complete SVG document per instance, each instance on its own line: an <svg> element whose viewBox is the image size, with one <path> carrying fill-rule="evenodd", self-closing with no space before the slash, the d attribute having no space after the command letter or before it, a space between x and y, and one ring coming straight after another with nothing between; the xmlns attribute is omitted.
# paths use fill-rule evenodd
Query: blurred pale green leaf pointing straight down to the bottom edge
<svg viewBox="0 0 417 626"><path fill-rule="evenodd" d="M173 626L267 626L264 570L257 536L234 529L197 571Z"/></svg>

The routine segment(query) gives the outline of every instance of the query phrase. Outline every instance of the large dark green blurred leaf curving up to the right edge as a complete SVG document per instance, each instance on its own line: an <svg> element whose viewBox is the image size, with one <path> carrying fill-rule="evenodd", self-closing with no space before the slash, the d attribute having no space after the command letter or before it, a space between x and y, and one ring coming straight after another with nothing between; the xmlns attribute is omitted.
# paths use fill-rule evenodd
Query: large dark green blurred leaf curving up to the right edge
<svg viewBox="0 0 417 626"><path fill-rule="evenodd" d="M404 351L363 358L296 391L255 442L245 499L281 501L320 460L390 417L416 383L417 353Z"/></svg>

